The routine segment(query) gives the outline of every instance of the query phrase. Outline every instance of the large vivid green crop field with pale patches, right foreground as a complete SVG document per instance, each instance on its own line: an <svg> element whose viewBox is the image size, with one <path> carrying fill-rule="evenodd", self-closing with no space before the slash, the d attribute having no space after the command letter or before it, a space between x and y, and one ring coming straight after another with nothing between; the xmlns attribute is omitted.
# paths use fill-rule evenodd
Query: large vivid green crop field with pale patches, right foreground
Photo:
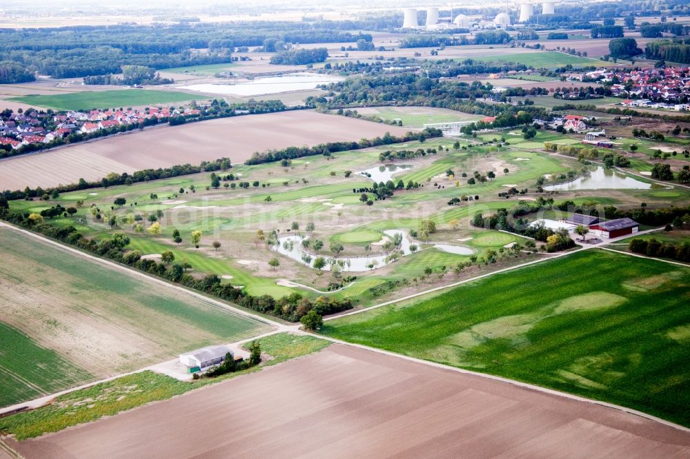
<svg viewBox="0 0 690 459"><path fill-rule="evenodd" d="M689 269L587 251L322 331L690 425L689 302Z"/></svg>

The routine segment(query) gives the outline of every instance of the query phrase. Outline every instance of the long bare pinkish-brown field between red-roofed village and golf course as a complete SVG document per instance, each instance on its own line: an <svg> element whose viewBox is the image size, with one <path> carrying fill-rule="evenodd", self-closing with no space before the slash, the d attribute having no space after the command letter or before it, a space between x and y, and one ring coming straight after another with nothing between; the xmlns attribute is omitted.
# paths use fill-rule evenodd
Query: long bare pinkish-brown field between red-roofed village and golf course
<svg viewBox="0 0 690 459"><path fill-rule="evenodd" d="M312 110L159 127L0 161L0 189L51 187L80 178L101 179L110 172L199 164L221 157L241 163L254 152L271 148L356 141L408 130Z"/></svg>

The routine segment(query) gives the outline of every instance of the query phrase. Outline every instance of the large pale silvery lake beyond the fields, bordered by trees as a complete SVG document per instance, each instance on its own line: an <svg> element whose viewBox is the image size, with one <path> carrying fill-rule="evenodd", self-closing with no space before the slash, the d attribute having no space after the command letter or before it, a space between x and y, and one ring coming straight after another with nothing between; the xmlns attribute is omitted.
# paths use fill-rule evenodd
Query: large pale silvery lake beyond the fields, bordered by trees
<svg viewBox="0 0 690 459"><path fill-rule="evenodd" d="M292 73L279 76L264 76L252 81L234 85L200 83L182 86L181 89L206 92L208 94L228 94L233 96L259 96L280 92L313 90L318 85L342 81L339 76L315 73Z"/></svg>

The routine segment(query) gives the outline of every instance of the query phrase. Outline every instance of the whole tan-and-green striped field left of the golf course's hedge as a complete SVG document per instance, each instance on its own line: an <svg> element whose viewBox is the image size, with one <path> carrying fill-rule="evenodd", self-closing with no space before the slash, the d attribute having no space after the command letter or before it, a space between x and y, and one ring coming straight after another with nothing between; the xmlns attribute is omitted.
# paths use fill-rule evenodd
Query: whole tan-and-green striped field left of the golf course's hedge
<svg viewBox="0 0 690 459"><path fill-rule="evenodd" d="M0 406L268 330L10 227L0 240Z"/></svg>

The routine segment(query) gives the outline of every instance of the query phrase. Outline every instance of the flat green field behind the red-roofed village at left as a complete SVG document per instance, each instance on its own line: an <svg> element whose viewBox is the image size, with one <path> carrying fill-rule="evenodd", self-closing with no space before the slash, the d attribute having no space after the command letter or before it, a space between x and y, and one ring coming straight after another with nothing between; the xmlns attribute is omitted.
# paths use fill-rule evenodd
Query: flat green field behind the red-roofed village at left
<svg viewBox="0 0 690 459"><path fill-rule="evenodd" d="M179 91L158 90L112 90L81 91L59 95L29 95L12 97L11 101L56 110L91 110L95 108L127 108L157 103L171 103L199 99L199 96Z"/></svg>

